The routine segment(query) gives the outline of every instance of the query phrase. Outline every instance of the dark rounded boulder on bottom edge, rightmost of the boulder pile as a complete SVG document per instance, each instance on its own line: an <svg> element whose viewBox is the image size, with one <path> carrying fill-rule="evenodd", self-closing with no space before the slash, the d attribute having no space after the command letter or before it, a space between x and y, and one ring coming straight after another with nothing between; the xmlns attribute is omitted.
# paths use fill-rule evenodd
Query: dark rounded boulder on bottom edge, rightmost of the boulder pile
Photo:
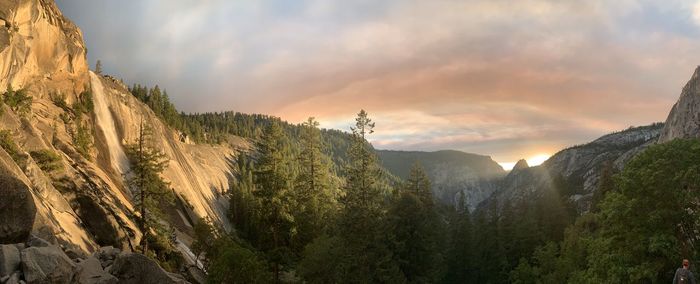
<svg viewBox="0 0 700 284"><path fill-rule="evenodd" d="M114 260L109 273L122 284L139 283L189 283L177 274L168 273L158 264L138 253L122 253Z"/></svg>

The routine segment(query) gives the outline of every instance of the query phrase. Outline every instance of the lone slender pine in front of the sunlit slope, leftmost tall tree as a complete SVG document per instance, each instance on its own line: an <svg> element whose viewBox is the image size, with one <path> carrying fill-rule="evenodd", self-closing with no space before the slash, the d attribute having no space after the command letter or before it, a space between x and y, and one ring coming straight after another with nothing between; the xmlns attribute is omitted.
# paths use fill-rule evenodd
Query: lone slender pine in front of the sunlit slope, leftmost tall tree
<svg viewBox="0 0 700 284"><path fill-rule="evenodd" d="M160 177L168 165L168 160L163 153L147 145L150 137L150 129L141 121L136 143L126 146L126 153L131 162L131 170L127 174L126 181L134 194L136 207L140 213L139 229L143 233L141 252L144 254L148 251L149 231L155 224L154 218L150 215L160 215L159 202L170 201L173 198L170 185Z"/></svg>

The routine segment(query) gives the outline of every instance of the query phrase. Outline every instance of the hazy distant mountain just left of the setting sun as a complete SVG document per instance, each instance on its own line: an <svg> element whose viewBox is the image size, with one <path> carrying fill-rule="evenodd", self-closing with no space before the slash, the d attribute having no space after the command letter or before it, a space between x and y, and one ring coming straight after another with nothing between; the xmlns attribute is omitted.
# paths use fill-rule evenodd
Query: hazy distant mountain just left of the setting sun
<svg viewBox="0 0 700 284"><path fill-rule="evenodd" d="M493 181L506 174L489 156L454 150L377 150L377 155L382 166L400 178L406 178L413 164L420 162L432 181L433 192L438 200L456 204L461 193L472 209L496 190Z"/></svg>

